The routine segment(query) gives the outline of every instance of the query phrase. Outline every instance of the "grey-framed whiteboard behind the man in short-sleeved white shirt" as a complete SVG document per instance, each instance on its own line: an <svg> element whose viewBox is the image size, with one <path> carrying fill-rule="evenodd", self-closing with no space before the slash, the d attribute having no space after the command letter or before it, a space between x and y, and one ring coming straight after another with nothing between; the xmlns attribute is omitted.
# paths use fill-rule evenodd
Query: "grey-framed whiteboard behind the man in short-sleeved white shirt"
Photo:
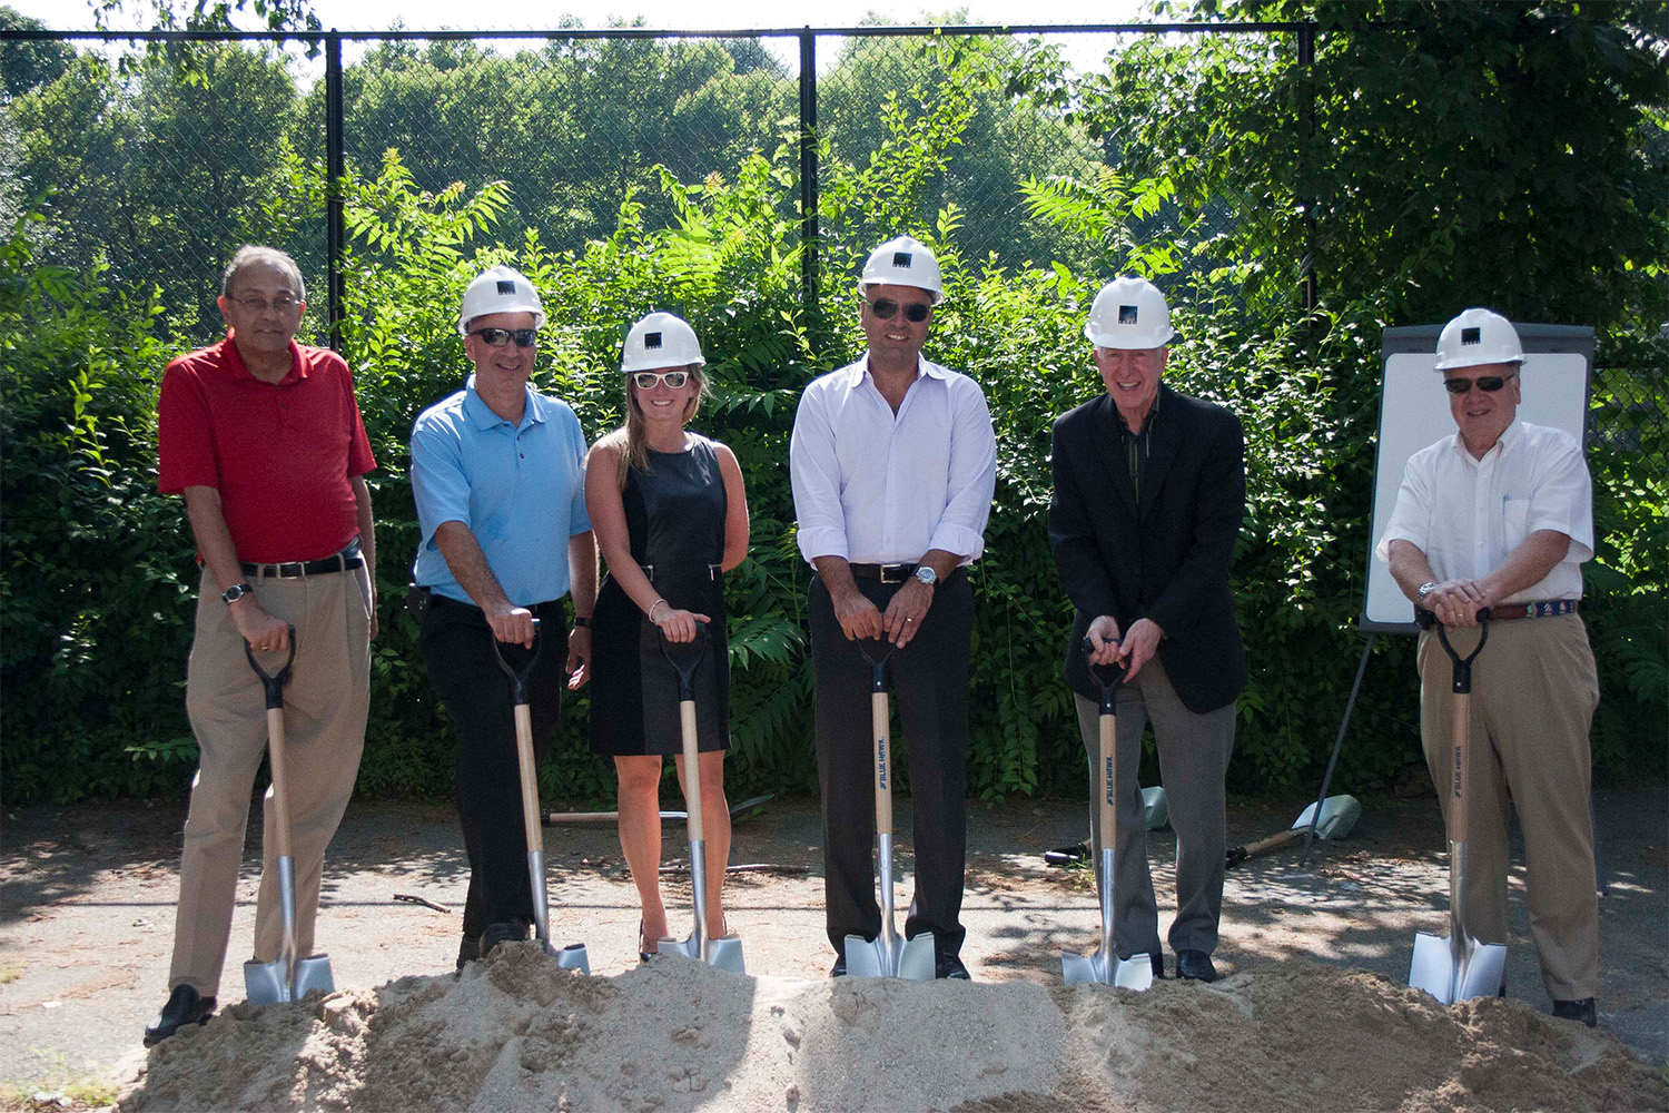
<svg viewBox="0 0 1669 1113"><path fill-rule="evenodd" d="M1586 439L1594 330L1579 325L1520 325L1524 344L1519 421L1564 429ZM1455 436L1449 394L1437 374L1442 325L1385 329L1380 349L1379 442L1374 454L1374 521L1367 546L1367 592L1357 626L1369 632L1414 634L1414 604L1374 557L1380 531L1390 521L1409 457L1435 441Z"/></svg>

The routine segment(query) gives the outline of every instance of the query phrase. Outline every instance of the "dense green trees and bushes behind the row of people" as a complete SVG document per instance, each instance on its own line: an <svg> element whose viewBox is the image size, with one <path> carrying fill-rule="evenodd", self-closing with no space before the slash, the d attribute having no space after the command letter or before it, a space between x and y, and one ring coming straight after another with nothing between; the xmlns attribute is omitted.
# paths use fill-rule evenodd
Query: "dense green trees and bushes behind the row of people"
<svg viewBox="0 0 1669 1113"><path fill-rule="evenodd" d="M793 82L758 43L386 43L350 65L362 123L342 182L340 344L379 462L382 627L361 791L437 796L451 781L444 714L399 611L419 541L406 444L462 384L456 307L494 262L546 294L536 384L572 402L591 439L619 421L628 324L668 309L696 327L714 395L694 424L736 451L753 514L726 584L728 776L739 793L814 788L788 439L804 384L861 352L861 257L903 230L940 252L950 290L926 354L983 385L998 437L973 566L973 793L1083 786L1060 682L1070 607L1045 536L1048 446L1053 417L1100 389L1080 329L1118 272L1162 280L1182 330L1172 382L1232 409L1247 436L1233 582L1252 676L1233 788L1314 783L1337 729L1360 656L1382 329L1490 300L1599 325L1601 541L1584 604L1604 686L1596 764L1661 769L1661 15L1390 0L1190 12L1314 12L1317 62L1300 68L1285 35L1143 40L1090 75L1006 38L850 40L823 78L809 300L798 144L779 140ZM0 245L8 799L179 791L194 761L180 692L192 542L179 501L155 494L154 410L167 357L217 322L212 275L159 252L182 235L194 260L274 240L322 285L320 90L300 92L262 50L194 57L192 80L62 58L0 108L18 138L0 152L0 212L33 214L38 197ZM249 123L235 144L214 130L227 112ZM1036 149L1065 154L1045 164ZM1314 314L1298 309L1305 259ZM304 325L314 340L320 317ZM1412 646L1375 656L1339 774L1354 791L1419 776ZM544 791L606 801L587 701L566 711Z"/></svg>

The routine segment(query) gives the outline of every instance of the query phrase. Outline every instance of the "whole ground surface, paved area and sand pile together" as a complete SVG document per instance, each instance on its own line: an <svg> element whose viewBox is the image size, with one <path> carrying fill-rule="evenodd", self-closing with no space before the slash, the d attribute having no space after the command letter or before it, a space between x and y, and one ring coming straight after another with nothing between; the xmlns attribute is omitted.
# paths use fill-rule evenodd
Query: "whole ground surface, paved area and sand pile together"
<svg viewBox="0 0 1669 1113"><path fill-rule="evenodd" d="M1237 804L1230 838L1282 829L1300 806ZM1093 949L1097 913L1087 874L1040 854L1082 833L1082 808L970 809L968 986L826 980L821 831L804 799L736 828L734 863L783 868L729 889L756 978L638 966L634 893L608 826L546 833L556 939L584 941L598 978L556 971L531 946L437 976L457 913L394 896L461 904L456 823L446 808L355 804L319 928L340 993L269 1010L237 1005L252 826L222 1016L149 1053L139 1038L167 995L180 806L22 809L0 854L0 1085L27 1096L120 1081L135 1110L1669 1108L1662 788L1597 798L1599 1033L1545 1018L1522 876L1509 1001L1440 1010L1405 988L1414 933L1447 931L1430 799L1369 801L1350 839L1307 869L1288 849L1230 871L1225 981L1061 988L1060 951ZM669 861L681 838L669 824ZM1162 926L1173 846L1153 834ZM900 864L908 886L908 854ZM669 879L669 904L676 923L688 883Z"/></svg>

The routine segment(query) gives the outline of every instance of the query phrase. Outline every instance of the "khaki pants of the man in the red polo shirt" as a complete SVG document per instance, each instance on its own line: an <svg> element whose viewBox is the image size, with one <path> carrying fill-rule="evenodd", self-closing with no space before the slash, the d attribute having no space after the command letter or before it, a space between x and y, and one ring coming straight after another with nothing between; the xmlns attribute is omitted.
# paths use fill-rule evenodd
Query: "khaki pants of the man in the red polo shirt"
<svg viewBox="0 0 1669 1113"><path fill-rule="evenodd" d="M335 834L359 773L371 708L371 584L366 569L305 579L255 579L255 599L295 626L295 664L284 689L284 731L295 858L295 953L312 954L324 848ZM267 654L269 672L282 664ZM220 586L204 569L185 709L199 766L180 856L169 988L215 996L225 966L237 874L244 861L249 794L267 751L265 691L249 661ZM262 828L255 959L279 956L284 938L272 814Z"/></svg>

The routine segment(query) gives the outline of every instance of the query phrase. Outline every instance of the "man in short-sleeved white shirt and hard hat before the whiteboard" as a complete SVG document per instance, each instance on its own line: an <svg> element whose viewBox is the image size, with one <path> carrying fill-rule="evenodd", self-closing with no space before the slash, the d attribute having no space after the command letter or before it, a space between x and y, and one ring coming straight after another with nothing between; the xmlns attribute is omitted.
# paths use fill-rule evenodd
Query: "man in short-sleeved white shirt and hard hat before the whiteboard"
<svg viewBox="0 0 1669 1113"><path fill-rule="evenodd" d="M1437 370L1459 432L1415 452L1377 554L1415 607L1472 651L1467 778L1467 921L1507 941L1507 803L1524 829L1530 938L1554 1016L1594 1026L1599 903L1589 799L1589 724L1599 677L1577 616L1594 556L1594 494L1582 446L1515 421L1524 349L1512 324L1469 309L1437 340ZM1469 631L1455 634L1454 631ZM1452 664L1420 634L1420 736L1449 814Z"/></svg>

